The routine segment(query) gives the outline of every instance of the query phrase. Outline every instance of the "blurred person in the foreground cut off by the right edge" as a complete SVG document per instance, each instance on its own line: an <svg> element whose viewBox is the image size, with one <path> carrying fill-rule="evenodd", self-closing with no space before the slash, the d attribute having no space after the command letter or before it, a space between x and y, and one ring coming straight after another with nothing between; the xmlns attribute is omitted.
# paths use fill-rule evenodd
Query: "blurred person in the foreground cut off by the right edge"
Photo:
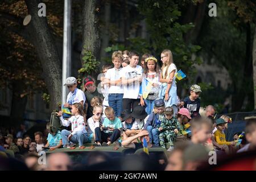
<svg viewBox="0 0 256 182"><path fill-rule="evenodd" d="M245 121L245 138L249 143L240 150L238 150L238 153L253 151L256 149L256 117L245 117Z"/></svg>

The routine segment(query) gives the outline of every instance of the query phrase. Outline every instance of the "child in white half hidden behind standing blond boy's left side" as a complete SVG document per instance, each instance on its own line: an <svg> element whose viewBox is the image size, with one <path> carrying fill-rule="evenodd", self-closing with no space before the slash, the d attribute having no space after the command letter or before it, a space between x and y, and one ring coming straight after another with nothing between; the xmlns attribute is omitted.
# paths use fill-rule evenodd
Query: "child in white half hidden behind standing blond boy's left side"
<svg viewBox="0 0 256 182"><path fill-rule="evenodd" d="M104 100L102 105L104 105L105 107L109 106L109 86L104 84L104 79L105 79L105 75L106 72L110 69L113 68L113 66L111 64L105 64L102 66L102 73L100 74L100 80L101 80L101 93L104 96Z"/></svg>

